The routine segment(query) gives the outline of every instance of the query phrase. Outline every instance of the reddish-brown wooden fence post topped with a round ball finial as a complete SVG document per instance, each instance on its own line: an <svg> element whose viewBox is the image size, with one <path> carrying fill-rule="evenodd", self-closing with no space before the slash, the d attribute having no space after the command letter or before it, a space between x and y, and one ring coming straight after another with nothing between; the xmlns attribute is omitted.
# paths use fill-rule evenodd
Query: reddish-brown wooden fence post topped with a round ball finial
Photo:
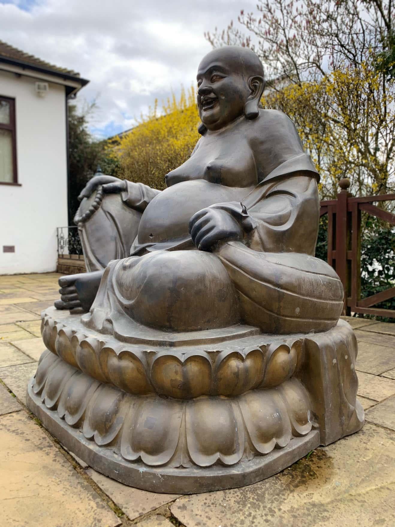
<svg viewBox="0 0 395 527"><path fill-rule="evenodd" d="M341 191L338 193L336 207L335 270L344 288L343 315L351 315L351 309L347 306L347 299L351 295L351 269L347 258L351 241L351 214L348 213L348 198L351 194L347 190L350 187L350 180L342 178L339 186Z"/></svg>

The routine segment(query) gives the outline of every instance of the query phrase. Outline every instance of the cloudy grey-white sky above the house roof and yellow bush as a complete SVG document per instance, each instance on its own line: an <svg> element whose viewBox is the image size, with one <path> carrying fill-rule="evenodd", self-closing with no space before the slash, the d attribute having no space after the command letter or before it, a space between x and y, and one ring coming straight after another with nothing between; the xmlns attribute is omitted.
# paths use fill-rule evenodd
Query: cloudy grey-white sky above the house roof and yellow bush
<svg viewBox="0 0 395 527"><path fill-rule="evenodd" d="M205 31L224 28L256 0L0 0L0 40L91 82L97 136L130 128L155 98L195 83L211 46Z"/></svg>

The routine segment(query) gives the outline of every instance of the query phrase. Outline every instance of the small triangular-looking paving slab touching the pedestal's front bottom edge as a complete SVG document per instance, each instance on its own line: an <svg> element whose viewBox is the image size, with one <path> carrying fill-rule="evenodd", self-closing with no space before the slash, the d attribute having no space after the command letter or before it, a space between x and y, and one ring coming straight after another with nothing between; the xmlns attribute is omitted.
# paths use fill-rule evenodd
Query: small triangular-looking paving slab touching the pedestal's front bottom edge
<svg viewBox="0 0 395 527"><path fill-rule="evenodd" d="M93 481L103 489L107 496L111 497L131 520L139 518L146 512L153 511L164 505L174 501L180 494L159 494L156 492L147 492L140 489L134 489L127 485L123 485L110 477L103 476L93 469L88 469Z"/></svg>

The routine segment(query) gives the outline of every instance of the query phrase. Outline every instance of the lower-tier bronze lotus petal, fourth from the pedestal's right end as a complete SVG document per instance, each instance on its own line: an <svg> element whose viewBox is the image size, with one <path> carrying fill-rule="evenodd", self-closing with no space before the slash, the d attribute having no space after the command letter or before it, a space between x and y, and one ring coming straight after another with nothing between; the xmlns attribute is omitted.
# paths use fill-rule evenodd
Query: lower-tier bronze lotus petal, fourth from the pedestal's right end
<svg viewBox="0 0 395 527"><path fill-rule="evenodd" d="M133 397L121 437L121 455L151 466L170 461L179 441L184 403L157 395Z"/></svg>

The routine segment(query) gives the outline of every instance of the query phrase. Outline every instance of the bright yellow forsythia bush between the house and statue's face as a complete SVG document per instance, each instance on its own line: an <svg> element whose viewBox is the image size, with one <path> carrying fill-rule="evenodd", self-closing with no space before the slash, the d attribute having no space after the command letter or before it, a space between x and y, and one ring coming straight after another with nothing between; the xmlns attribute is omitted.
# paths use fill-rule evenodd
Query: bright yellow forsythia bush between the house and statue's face
<svg viewBox="0 0 395 527"><path fill-rule="evenodd" d="M120 161L118 177L164 189L167 172L190 157L199 139L194 88L183 89L179 100L173 95L158 113L155 101L139 125L115 142L112 155Z"/></svg>

